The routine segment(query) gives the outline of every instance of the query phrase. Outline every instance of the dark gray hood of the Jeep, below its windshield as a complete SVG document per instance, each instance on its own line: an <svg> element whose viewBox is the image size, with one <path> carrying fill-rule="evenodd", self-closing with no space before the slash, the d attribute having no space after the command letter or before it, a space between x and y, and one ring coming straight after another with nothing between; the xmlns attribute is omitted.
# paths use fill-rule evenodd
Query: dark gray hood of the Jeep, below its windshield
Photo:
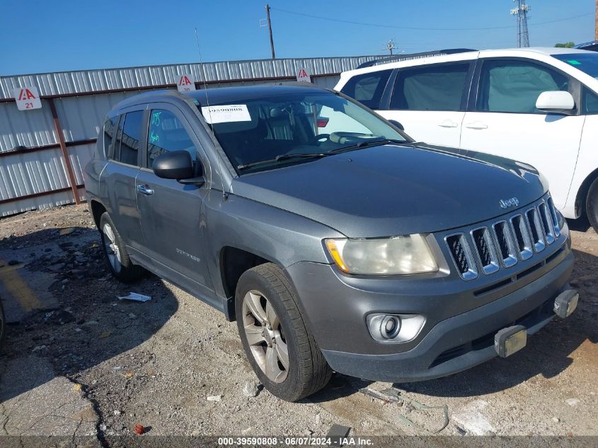
<svg viewBox="0 0 598 448"><path fill-rule="evenodd" d="M425 144L381 145L236 178L235 195L321 222L350 238L466 226L547 188L531 166Z"/></svg>

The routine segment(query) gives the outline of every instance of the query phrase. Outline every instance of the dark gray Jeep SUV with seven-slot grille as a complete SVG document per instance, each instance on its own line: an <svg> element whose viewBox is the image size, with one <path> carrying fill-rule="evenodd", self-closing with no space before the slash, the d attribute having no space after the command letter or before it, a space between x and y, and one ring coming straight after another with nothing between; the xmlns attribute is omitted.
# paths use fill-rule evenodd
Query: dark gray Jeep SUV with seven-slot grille
<svg viewBox="0 0 598 448"><path fill-rule="evenodd" d="M333 370L418 381L508 356L577 304L534 168L415 143L311 85L124 100L86 189L115 277L149 270L236 320L288 401Z"/></svg>

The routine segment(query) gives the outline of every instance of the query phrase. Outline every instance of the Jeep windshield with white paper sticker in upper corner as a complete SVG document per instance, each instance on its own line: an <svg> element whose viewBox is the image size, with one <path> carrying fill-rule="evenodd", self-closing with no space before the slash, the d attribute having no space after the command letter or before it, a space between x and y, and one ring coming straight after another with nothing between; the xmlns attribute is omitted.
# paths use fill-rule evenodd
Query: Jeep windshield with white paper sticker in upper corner
<svg viewBox="0 0 598 448"><path fill-rule="evenodd" d="M369 110L334 93L211 103L201 111L239 174L314 161L373 140L407 141Z"/></svg>

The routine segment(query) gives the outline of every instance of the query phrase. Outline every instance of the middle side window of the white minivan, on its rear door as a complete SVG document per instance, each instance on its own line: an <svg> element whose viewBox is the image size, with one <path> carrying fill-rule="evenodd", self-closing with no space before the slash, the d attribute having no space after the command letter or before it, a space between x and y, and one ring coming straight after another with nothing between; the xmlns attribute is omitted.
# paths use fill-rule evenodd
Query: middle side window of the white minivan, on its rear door
<svg viewBox="0 0 598 448"><path fill-rule="evenodd" d="M401 69L394 84L391 109L461 110L471 64L442 64Z"/></svg>

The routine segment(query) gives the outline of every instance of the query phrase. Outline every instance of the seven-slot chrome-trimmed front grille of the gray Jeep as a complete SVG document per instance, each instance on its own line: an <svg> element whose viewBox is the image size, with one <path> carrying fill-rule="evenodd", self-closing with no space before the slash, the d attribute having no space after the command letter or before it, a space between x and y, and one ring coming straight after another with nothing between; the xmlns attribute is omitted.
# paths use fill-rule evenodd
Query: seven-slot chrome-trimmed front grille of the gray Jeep
<svg viewBox="0 0 598 448"><path fill-rule="evenodd" d="M524 213L451 234L445 241L459 275L473 280L479 271L490 275L531 258L534 252L554 243L559 235L558 215L548 197Z"/></svg>

